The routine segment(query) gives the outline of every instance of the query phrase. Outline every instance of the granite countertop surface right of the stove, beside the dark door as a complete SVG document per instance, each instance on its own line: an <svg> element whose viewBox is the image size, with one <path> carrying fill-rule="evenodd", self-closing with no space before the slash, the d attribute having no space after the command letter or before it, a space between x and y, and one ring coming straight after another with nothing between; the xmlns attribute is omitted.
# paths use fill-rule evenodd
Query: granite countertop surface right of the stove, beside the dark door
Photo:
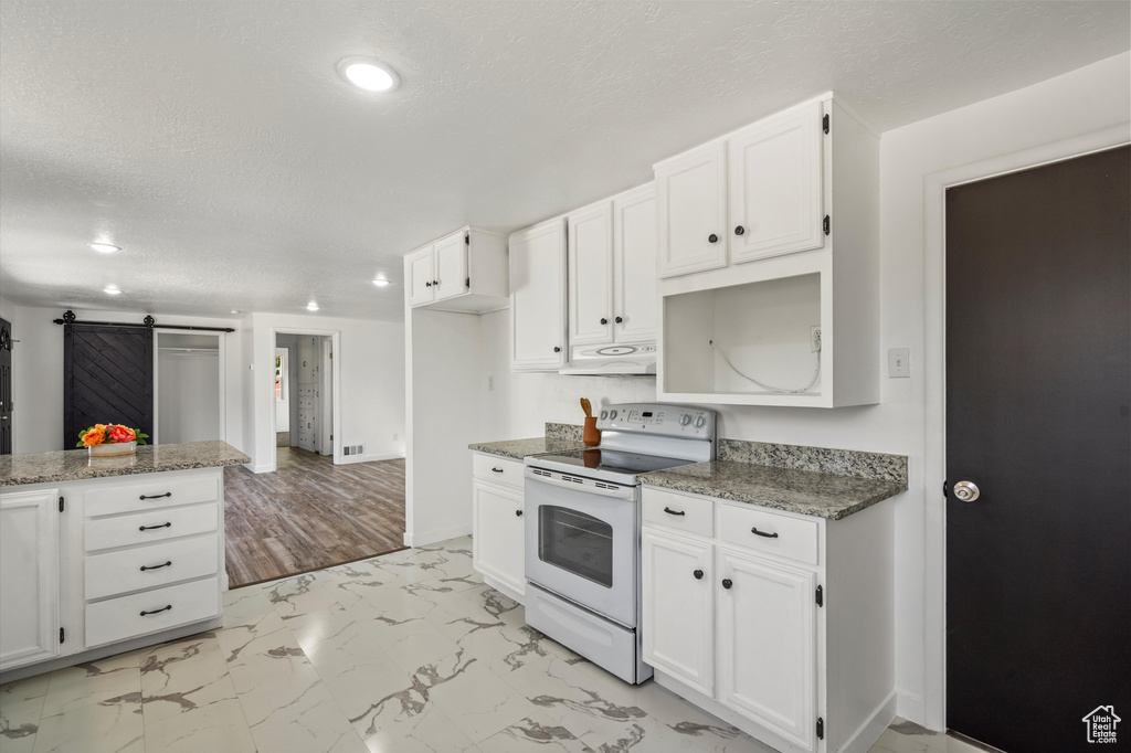
<svg viewBox="0 0 1131 753"><path fill-rule="evenodd" d="M679 466L640 476L646 486L840 520L907 491L906 481L775 468L737 460Z"/></svg>

